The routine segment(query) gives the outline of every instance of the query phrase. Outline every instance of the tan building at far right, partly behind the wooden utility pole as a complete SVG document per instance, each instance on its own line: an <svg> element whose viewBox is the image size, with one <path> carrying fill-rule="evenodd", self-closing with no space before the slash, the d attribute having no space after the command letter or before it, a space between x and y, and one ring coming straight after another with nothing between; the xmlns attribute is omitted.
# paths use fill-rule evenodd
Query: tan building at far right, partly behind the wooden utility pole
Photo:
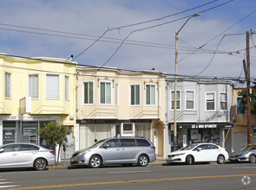
<svg viewBox="0 0 256 190"><path fill-rule="evenodd" d="M241 101L239 92L246 90L245 87L233 88L233 151L239 151L247 145L247 110ZM253 127L253 144L256 144L256 115L251 114Z"/></svg>

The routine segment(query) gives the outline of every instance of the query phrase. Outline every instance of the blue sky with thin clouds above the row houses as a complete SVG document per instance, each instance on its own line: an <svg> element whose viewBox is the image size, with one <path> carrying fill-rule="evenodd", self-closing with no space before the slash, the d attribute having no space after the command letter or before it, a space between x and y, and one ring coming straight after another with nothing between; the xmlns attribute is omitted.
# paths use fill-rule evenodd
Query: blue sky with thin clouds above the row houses
<svg viewBox="0 0 256 190"><path fill-rule="evenodd" d="M0 52L172 75L180 28L178 75L244 78L249 31L256 79L254 0L1 0Z"/></svg>

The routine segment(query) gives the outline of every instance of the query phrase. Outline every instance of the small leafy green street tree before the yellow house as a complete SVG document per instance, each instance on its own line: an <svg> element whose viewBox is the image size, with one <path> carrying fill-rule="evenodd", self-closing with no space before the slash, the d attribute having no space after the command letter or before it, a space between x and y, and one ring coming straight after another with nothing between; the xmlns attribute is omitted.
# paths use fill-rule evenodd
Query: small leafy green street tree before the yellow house
<svg viewBox="0 0 256 190"><path fill-rule="evenodd" d="M62 144L68 141L67 135L70 134L69 128L56 122L50 122L48 124L44 123L44 128L37 130L37 133L43 140L50 144L50 149L55 149L56 145L59 145L57 155L58 164Z"/></svg>

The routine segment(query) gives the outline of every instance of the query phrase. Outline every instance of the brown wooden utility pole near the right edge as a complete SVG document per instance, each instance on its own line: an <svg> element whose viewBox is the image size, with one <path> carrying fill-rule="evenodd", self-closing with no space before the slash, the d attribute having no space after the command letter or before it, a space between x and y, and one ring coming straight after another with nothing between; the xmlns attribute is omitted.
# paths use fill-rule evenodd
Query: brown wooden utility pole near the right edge
<svg viewBox="0 0 256 190"><path fill-rule="evenodd" d="M253 129L251 124L251 79L250 79L250 34L246 31L246 60L243 60L247 84L247 144L253 144Z"/></svg>

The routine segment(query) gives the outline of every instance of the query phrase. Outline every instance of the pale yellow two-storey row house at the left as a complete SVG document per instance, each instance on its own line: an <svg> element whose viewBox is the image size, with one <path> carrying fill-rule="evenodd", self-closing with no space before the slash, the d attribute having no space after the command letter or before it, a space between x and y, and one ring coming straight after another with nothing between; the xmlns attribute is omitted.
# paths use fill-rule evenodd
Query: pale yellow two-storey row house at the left
<svg viewBox="0 0 256 190"><path fill-rule="evenodd" d="M36 130L50 121L70 128L75 149L75 68L69 60L0 54L0 144L45 145Z"/></svg>

